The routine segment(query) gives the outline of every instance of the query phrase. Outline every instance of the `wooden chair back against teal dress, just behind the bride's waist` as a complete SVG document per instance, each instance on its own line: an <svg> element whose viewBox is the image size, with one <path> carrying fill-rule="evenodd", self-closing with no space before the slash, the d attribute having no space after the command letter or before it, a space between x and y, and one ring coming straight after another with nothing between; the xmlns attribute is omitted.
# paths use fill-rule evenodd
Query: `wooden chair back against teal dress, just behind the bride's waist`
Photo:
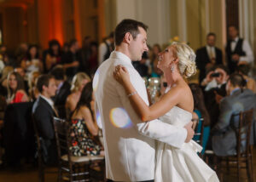
<svg viewBox="0 0 256 182"><path fill-rule="evenodd" d="M191 120L193 122L193 129L195 130L194 140L199 145L202 145L204 133L204 118L196 118Z"/></svg>

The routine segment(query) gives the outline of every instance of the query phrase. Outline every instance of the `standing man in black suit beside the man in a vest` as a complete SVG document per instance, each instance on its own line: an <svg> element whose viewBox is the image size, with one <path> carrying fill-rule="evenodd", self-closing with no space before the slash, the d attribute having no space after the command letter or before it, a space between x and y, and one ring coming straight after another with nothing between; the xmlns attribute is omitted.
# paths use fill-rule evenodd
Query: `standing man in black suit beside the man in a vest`
<svg viewBox="0 0 256 182"><path fill-rule="evenodd" d="M207 45L196 50L196 65L200 70L199 81L201 82L206 77L206 71L211 69L213 65L223 64L222 52L215 47L215 33L208 33Z"/></svg>

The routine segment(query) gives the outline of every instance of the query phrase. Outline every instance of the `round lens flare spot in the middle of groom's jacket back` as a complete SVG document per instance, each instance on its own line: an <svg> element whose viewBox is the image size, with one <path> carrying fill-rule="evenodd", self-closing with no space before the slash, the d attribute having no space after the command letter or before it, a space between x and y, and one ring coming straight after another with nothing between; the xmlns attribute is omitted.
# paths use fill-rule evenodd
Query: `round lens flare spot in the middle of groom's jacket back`
<svg viewBox="0 0 256 182"><path fill-rule="evenodd" d="M131 128L132 122L125 109L113 108L109 114L110 121L116 128Z"/></svg>

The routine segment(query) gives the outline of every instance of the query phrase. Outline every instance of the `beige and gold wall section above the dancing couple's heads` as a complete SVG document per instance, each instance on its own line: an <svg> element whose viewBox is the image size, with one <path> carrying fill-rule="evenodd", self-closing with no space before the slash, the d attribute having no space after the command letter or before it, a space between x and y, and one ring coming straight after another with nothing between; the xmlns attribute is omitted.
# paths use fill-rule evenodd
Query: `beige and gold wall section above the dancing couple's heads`
<svg viewBox="0 0 256 182"><path fill-rule="evenodd" d="M178 36L192 48L204 45L207 32L218 35L217 45L223 47L223 0L105 0L110 12L105 16L107 31L124 18L141 20L149 26L148 43L167 43Z"/></svg>

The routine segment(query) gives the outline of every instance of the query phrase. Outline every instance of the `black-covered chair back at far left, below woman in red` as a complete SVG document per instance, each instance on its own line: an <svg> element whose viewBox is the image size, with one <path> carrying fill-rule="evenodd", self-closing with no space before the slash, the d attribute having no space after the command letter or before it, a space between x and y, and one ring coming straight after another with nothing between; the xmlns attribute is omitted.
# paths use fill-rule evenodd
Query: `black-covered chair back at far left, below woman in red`
<svg viewBox="0 0 256 182"><path fill-rule="evenodd" d="M24 157L32 158L35 139L32 126L32 102L9 104L3 118L3 145L8 165L19 163ZM19 151L19 152L17 152Z"/></svg>

